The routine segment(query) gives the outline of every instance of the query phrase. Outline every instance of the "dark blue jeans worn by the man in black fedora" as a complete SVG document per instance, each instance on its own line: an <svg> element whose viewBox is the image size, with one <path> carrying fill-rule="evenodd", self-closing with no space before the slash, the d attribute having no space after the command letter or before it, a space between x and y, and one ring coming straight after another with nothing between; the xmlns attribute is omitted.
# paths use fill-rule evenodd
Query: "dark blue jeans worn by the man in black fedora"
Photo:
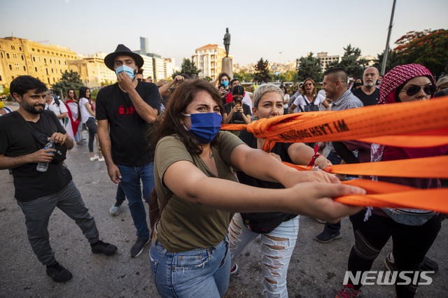
<svg viewBox="0 0 448 298"><path fill-rule="evenodd" d="M140 186L143 184L143 198L149 203L149 194L154 188L154 163L150 162L144 166L122 166L118 165L121 173L120 186L125 191L128 201L127 206L131 211L137 236L143 239L149 238L148 223L146 222L146 210L142 201Z"/></svg>

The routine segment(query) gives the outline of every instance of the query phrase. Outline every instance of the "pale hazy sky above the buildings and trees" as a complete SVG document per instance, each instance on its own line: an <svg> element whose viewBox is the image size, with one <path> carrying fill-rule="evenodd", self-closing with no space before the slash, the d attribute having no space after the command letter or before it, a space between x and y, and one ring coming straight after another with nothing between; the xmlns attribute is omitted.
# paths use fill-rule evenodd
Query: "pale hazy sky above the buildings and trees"
<svg viewBox="0 0 448 298"><path fill-rule="evenodd" d="M223 46L225 28L234 63L260 57L293 61L307 52L342 55L351 43L377 56L386 45L393 0L148 1L0 0L0 37L50 41L78 55L113 52L118 43L174 57L176 65L208 43ZM407 31L447 29L447 0L397 0L391 48ZM281 54L279 53L281 52Z"/></svg>

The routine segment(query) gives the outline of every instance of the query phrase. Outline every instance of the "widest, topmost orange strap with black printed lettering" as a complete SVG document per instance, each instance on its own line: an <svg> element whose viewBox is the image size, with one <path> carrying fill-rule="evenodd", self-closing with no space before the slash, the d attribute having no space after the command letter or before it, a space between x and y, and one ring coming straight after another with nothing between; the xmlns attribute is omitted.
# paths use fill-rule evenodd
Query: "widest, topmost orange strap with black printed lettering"
<svg viewBox="0 0 448 298"><path fill-rule="evenodd" d="M407 147L409 143L420 143L419 146L422 146L422 142L419 140L423 138L428 141L428 143L424 143L424 146L428 147L448 143L447 115L448 97L441 97L430 101L365 106L345 111L283 115L252 122L247 125L247 130L258 139L269 140L271 145L277 141L311 143L368 140L395 146L400 145L400 141L407 136L401 136L401 139L392 137L379 139L378 137L411 134L408 140L416 141L408 141L401 146ZM421 136L421 134L429 136ZM269 146L266 147L267 150L270 150Z"/></svg>

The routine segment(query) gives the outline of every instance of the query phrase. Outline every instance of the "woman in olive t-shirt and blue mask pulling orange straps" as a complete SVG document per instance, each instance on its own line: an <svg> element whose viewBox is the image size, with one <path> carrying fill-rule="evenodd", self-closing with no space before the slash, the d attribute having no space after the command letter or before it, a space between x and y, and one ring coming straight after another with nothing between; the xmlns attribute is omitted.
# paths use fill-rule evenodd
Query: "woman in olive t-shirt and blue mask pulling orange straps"
<svg viewBox="0 0 448 298"><path fill-rule="evenodd" d="M280 108L283 104L280 101ZM230 132L220 132L223 104L206 80L176 88L162 122L148 131L158 140L154 180L158 204L171 196L155 225L151 273L162 297L222 297L228 288L228 226L234 212L288 212L335 221L359 207L332 197L364 194L324 171L297 171ZM233 169L285 189L237 182Z"/></svg>

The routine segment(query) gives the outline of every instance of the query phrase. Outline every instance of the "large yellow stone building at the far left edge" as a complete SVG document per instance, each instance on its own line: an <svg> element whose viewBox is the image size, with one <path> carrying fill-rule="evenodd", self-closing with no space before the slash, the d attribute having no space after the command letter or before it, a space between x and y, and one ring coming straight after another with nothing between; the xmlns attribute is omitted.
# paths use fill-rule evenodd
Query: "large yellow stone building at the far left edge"
<svg viewBox="0 0 448 298"><path fill-rule="evenodd" d="M24 38L0 38L0 84L9 84L18 76L28 75L50 85L57 83L68 69L76 52L60 45L43 45Z"/></svg>

